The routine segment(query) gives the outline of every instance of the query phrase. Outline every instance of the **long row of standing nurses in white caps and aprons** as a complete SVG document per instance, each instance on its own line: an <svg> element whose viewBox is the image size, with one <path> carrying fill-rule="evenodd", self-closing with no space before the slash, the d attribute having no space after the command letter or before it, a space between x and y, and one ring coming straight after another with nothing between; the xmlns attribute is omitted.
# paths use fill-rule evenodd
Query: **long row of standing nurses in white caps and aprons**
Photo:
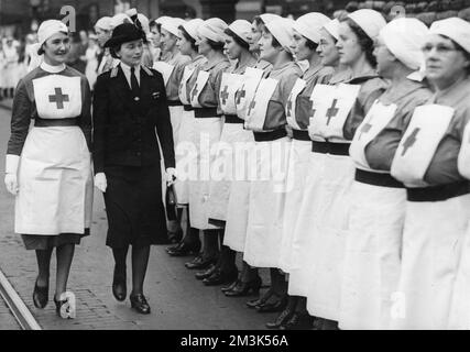
<svg viewBox="0 0 470 352"><path fill-rule="evenodd" d="M168 66L193 228L171 255L201 230L186 266L229 297L270 268L248 302L280 312L269 328L468 328L468 22L359 10L161 28L206 58Z"/></svg>

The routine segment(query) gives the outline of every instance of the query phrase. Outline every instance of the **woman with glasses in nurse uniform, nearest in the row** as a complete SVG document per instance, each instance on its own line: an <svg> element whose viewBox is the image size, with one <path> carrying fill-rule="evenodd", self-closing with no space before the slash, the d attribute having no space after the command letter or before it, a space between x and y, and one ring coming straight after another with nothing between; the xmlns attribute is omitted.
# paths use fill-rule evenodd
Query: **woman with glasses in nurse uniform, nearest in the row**
<svg viewBox="0 0 470 352"><path fill-rule="evenodd" d="M458 157L469 141L470 24L450 18L429 31L423 51L436 92L415 109L392 164L407 191L392 328L468 329L469 292L461 290L458 273L464 272L470 188Z"/></svg>

